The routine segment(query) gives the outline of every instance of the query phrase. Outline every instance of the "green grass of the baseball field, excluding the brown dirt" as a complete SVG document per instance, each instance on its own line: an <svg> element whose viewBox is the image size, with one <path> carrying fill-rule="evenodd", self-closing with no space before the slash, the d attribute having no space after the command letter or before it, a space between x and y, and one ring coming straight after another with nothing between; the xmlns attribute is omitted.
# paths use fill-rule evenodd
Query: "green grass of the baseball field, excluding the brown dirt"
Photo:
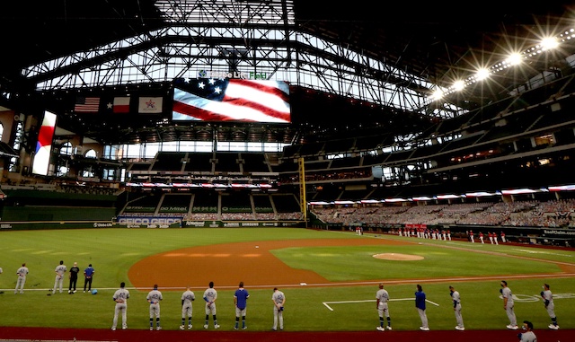
<svg viewBox="0 0 575 342"><path fill-rule="evenodd" d="M272 250L290 267L310 269L331 282L353 285L293 286L282 288L288 303L284 314L291 331L372 330L378 323L376 283L383 281L392 302L389 304L394 329L418 329L415 311L415 284L432 303L428 304L431 329L454 329L448 285L462 295L466 329L505 329L509 323L499 298L500 279L506 279L517 296L517 320L532 320L544 328L550 319L539 298L541 285L549 283L555 294L556 314L562 329L575 329L575 279L553 276L560 267L546 261L575 264L575 253L566 250L469 243L464 241L421 241L390 235L358 236L351 232L326 232L299 228L206 228L206 229L86 229L0 232L0 294L3 310L0 326L98 328L110 329L114 303L111 295L121 281L130 286L128 269L137 260L156 253L237 241L275 241L289 239L393 239L411 241L402 246L349 246L288 248ZM424 243L419 243L424 242ZM419 261L374 259L374 254L403 253L424 257ZM516 258L519 257L519 258ZM84 269L96 268L93 287L96 295L57 294L47 296L54 285L54 267L58 260L68 267L77 261ZM30 268L26 293L13 294L15 271L22 262ZM185 270L184 270L185 271ZM539 277L537 274L551 276ZM513 276L533 275L526 278ZM233 276L233 275L232 275ZM240 276L240 275L238 275ZM466 281L462 277L491 276L491 279ZM445 278L458 280L446 281ZM443 278L444 280L438 280ZM78 280L82 289L84 276ZM65 280L67 286L67 279ZM183 286L183 285L182 285ZM216 286L217 287L217 286ZM269 330L272 323L271 289L246 288L251 293L248 306L250 330ZM201 295L204 288L192 289L194 329L202 329L204 312ZM234 289L218 289L217 317L221 329L234 326ZM163 291L164 329L178 329L181 322L181 290ZM146 291L131 289L128 303L129 329L147 329ZM210 320L211 324L211 320ZM210 329L213 329L210 326Z"/></svg>

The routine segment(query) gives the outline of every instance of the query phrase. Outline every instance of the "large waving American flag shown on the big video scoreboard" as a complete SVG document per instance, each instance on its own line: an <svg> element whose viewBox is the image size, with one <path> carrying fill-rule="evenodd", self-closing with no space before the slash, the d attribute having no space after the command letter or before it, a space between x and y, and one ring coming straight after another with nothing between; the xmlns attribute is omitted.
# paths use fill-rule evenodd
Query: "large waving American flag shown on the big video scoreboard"
<svg viewBox="0 0 575 342"><path fill-rule="evenodd" d="M289 123L285 82L198 78L190 88L174 88L173 120Z"/></svg>

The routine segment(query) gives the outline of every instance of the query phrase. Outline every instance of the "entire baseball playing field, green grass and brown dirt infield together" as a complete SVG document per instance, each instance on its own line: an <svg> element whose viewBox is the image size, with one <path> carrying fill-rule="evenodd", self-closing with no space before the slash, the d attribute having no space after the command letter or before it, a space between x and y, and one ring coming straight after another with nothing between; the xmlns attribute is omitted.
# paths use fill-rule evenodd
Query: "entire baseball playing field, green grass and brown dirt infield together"
<svg viewBox="0 0 575 342"><path fill-rule="evenodd" d="M362 338L367 340L403 334L403 340L420 340L421 334L430 333L425 339L429 340L439 332L445 334L437 336L442 340L459 340L461 334L471 341L480 335L516 340L517 331L505 328L509 320L502 309L500 280L508 281L516 297L517 320L533 321L540 341L561 340L562 334L575 329L573 250L303 228L113 228L13 231L0 232L0 236L0 267L4 269L0 275L4 292L0 296L4 308L0 311L0 338L41 339L41 334L51 331L50 338L43 338L66 340L75 331L73 338L82 339L85 333L92 336L85 338L89 340L95 340L94 334L102 334L98 335L102 340L141 339L138 334L144 332L148 340L190 340L195 336L208 341L226 333L265 340L273 319L271 293L277 286L287 296L286 329L276 333L284 334L279 336L285 340L296 338L290 334L303 334L296 338L300 339L329 338L333 333L348 339L357 338L356 334L365 334ZM63 294L47 295L59 260L68 268L78 262L82 270L92 263L96 269L93 288L98 294L83 293L84 276L80 275L76 294L67 294L66 279ZM15 272L22 262L30 268L25 293L13 294ZM217 331L211 318L209 329L202 328L201 296L209 281L215 282L218 291L221 328ZM233 294L240 281L251 294L247 331L233 329ZM120 282L126 282L131 294L129 334L110 331L111 296ZM375 294L380 282L391 297L394 328L383 333L376 331ZM554 294L559 331L546 328L551 320L539 295L544 283L551 285ZM151 332L146 331L146 294L154 284L164 294L163 330ZM429 332L419 330L420 318L413 303L416 284L423 286L429 301ZM197 298L194 328L180 331L181 293L187 285ZM454 329L448 285L462 295L465 331ZM281 340L279 336L274 341ZM553 339L544 339L547 336Z"/></svg>

